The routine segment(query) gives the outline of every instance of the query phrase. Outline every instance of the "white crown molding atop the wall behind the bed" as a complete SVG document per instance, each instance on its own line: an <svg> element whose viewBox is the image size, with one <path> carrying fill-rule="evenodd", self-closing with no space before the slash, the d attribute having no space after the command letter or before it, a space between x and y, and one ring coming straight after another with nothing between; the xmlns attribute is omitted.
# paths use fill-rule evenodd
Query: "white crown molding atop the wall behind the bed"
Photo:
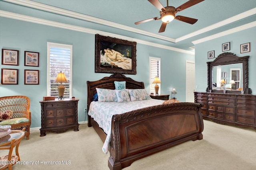
<svg viewBox="0 0 256 170"><path fill-rule="evenodd" d="M16 14L16 13L4 11L4 10L0 10L0 16L5 17L5 18L12 18L12 19L15 19L15 20L38 23L38 24L42 24L42 25L48 25L48 26L52 26L52 27L59 27L59 28L63 28L63 29L69 29L69 30L73 30L73 31L79 31L79 32L90 33L90 34L100 34L100 35L104 35L104 36L110 36L110 37L115 37L115 38L119 38L119 39L125 39L125 40L128 40L128 41L136 41L137 43L144 44L144 45L149 45L149 46L152 46L152 47L158 47L158 48L167 49L167 50L171 50L171 51L177 51L177 52L180 52L180 53L195 55L195 53L192 52L192 51L178 49L178 48L175 48L175 47L161 45L161 44L158 44L158 43L152 43L152 42L149 42L149 41L135 39L135 38L132 38L132 37L126 37L126 36L122 36L122 35L118 35L118 34L114 34L114 33L108 33L108 32L105 32L105 31L99 31L99 30L96 30L96 29L90 29L90 28L80 27L80 26L76 26L76 25L60 23L60 22L56 22L56 21L44 20L44 19L41 19L41 18L26 16L26 15L22 15L22 14Z"/></svg>

